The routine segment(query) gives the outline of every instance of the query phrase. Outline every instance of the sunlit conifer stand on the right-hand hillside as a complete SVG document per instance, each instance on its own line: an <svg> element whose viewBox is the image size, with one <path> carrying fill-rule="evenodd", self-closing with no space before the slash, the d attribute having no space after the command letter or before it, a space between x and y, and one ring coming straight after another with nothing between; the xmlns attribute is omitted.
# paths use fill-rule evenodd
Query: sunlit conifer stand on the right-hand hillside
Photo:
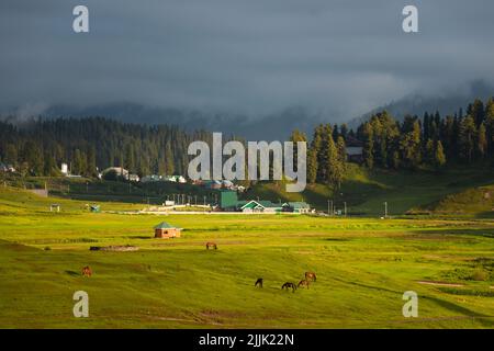
<svg viewBox="0 0 494 351"><path fill-rule="evenodd" d="M295 132L294 140L307 140ZM440 170L447 165L492 165L494 162L494 100L469 104L463 113L423 117L405 116L396 121L386 111L374 114L357 131L346 125L318 125L310 141L307 180L339 188L345 173L345 146L357 141L362 147L368 169L419 171Z"/></svg>

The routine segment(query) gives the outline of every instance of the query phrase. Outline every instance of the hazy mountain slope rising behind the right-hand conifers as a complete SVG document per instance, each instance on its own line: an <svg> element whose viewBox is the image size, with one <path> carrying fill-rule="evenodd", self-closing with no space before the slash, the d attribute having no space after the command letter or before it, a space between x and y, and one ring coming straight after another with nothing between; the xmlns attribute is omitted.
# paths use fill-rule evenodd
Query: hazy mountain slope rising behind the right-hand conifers
<svg viewBox="0 0 494 351"><path fill-rule="evenodd" d="M464 110L476 98L485 101L491 97L494 97L494 87L484 81L472 82L464 91L446 93L444 95L414 93L386 105L373 109L362 116L351 120L348 125L356 128L372 114L383 110L390 112L396 120L403 120L406 114L422 117L425 112L435 113L436 111L439 111L442 115L452 115L460 109Z"/></svg>

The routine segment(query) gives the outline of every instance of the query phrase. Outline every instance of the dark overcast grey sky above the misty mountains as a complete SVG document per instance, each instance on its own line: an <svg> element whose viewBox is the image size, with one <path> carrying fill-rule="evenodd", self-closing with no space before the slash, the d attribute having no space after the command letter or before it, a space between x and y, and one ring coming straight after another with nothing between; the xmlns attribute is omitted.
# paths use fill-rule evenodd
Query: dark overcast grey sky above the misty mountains
<svg viewBox="0 0 494 351"><path fill-rule="evenodd" d="M76 4L90 33L72 32ZM419 33L402 31L415 4ZM492 0L0 2L0 107L128 101L347 118L494 80Z"/></svg>

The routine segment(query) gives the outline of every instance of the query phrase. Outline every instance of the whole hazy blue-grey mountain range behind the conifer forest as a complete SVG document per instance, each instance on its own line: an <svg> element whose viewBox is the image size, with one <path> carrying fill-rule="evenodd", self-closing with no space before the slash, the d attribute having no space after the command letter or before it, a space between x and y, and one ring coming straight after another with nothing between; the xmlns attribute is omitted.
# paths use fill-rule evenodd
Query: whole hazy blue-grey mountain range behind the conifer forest
<svg viewBox="0 0 494 351"><path fill-rule="evenodd" d="M452 92L451 92L452 91ZM362 121L383 110L395 118L402 120L406 114L422 116L424 112L439 111L442 115L453 114L460 107L467 107L475 98L487 100L494 95L494 86L484 81L475 81L464 89L453 89L442 94L414 93L397 101L372 109L361 116L350 120L347 125L357 128ZM78 106L72 104L27 105L11 107L1 112L3 118L13 115L14 120L23 120L42 115L44 117L90 117L103 116L137 124L178 125L191 132L205 129L223 132L226 136L239 136L248 140L285 140L294 129L312 136L314 127L319 123L335 123L335 117L328 112L319 112L308 106L291 106L282 111L265 115L247 116L242 113L215 113L178 107L154 107L132 102L115 102ZM339 125L341 122L338 120Z"/></svg>

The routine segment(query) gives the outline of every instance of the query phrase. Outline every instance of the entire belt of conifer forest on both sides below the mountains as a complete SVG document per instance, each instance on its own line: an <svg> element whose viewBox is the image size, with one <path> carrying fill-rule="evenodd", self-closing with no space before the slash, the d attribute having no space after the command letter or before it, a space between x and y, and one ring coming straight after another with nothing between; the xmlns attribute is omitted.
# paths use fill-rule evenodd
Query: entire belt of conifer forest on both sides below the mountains
<svg viewBox="0 0 494 351"><path fill-rule="evenodd" d="M262 126L259 126L260 128ZM96 168L123 166L139 174L186 173L192 140L211 141L210 132L187 133L177 126L126 124L112 120L37 120L16 126L0 123L0 160L22 174L55 176L60 162L72 173L93 176ZM362 146L368 169L440 170L447 165L494 161L494 100L475 100L454 115L438 112L396 121L388 112L374 114L356 131L321 124L306 140L310 183L339 188L347 172L346 147Z"/></svg>

